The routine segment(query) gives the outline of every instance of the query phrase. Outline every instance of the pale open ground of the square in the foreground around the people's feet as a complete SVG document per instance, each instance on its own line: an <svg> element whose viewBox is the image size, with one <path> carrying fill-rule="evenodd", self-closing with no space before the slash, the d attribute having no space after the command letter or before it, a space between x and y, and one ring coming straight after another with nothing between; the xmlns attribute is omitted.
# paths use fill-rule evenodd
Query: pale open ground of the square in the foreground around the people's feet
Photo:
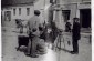
<svg viewBox="0 0 94 61"><path fill-rule="evenodd" d="M92 47L88 34L82 34L79 41L79 54L71 54L64 50L51 50L48 49L48 53L40 55L39 58L30 58L24 55L23 52L17 51L18 47L18 31L14 28L2 28L2 60L3 61L92 61ZM64 43L62 42L62 48L66 50L72 50L72 43L67 44L71 40L71 34L64 34Z"/></svg>

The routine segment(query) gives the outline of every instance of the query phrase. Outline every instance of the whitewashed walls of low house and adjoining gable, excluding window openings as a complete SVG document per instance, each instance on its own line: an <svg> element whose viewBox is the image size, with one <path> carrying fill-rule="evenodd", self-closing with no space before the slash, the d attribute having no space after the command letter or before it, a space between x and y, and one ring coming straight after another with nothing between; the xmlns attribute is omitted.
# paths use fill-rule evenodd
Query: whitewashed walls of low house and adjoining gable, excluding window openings
<svg viewBox="0 0 94 61"><path fill-rule="evenodd" d="M17 6L10 6L7 8L3 8L2 14L4 17L4 11L11 11L11 20L15 19L22 19L22 20L28 20L34 14L34 10L40 10L40 20L43 23L44 19L48 20L48 10L50 6L50 0L39 0L34 4L17 4ZM21 14L19 14L19 8L21 8ZM27 8L30 8L30 14L27 16ZM15 9L15 16L13 14L13 9Z"/></svg>

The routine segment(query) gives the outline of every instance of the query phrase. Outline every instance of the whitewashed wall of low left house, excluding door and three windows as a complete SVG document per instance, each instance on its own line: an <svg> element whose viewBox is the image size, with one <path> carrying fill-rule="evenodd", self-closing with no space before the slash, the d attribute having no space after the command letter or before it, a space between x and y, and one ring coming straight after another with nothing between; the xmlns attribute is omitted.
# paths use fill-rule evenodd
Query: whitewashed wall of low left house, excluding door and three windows
<svg viewBox="0 0 94 61"><path fill-rule="evenodd" d="M21 8L21 14L19 14L19 8ZM27 16L27 8L30 8L30 14ZM13 14L13 9L15 9L15 16ZM33 6L24 6L24 7L7 7L7 8L3 8L2 10L2 14L4 16L4 12L6 11L11 11L11 20L14 20L14 19L22 19L22 20L28 20L30 19L34 13L33 13ZM6 17L6 16L4 16Z"/></svg>

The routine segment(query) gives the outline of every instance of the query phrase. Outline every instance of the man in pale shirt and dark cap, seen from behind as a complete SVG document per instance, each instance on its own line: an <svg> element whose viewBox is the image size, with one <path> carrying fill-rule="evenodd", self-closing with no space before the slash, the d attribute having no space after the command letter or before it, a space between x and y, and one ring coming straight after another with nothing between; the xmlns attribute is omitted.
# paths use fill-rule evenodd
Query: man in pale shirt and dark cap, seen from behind
<svg viewBox="0 0 94 61"><path fill-rule="evenodd" d="M28 45L28 54L30 54L33 58L36 58L36 45L40 41L40 11L34 10L34 16L28 21L28 28L29 28L29 45Z"/></svg>

